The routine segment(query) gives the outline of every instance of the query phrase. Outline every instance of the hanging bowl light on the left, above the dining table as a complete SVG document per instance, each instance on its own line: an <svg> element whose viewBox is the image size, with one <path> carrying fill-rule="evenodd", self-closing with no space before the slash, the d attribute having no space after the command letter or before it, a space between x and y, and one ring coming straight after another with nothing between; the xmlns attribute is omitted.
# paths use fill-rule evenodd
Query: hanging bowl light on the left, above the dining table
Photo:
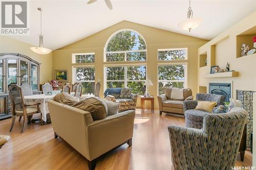
<svg viewBox="0 0 256 170"><path fill-rule="evenodd" d="M42 9L41 8L37 8L38 11L40 11L40 34L39 34L39 46L33 46L30 47L30 49L37 53L37 54L49 54L51 53L52 50L45 48L44 47L44 42L42 40L42 38L44 37L44 35L42 35Z"/></svg>

